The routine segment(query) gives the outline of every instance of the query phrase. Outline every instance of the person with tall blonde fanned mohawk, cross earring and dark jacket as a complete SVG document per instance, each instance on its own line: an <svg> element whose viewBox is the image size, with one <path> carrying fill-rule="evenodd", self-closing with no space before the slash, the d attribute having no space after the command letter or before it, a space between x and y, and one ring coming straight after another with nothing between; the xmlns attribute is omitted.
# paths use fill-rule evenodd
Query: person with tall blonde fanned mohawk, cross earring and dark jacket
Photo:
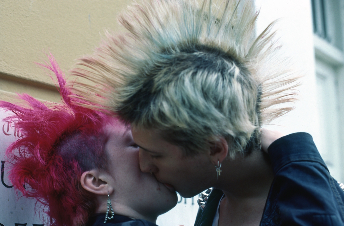
<svg viewBox="0 0 344 226"><path fill-rule="evenodd" d="M184 197L214 188L195 226L344 225L344 192L311 135L261 129L292 110L298 77L273 23L255 37L258 13L251 1L134 3L127 32L73 72L100 85L74 89L130 124L143 172Z"/></svg>

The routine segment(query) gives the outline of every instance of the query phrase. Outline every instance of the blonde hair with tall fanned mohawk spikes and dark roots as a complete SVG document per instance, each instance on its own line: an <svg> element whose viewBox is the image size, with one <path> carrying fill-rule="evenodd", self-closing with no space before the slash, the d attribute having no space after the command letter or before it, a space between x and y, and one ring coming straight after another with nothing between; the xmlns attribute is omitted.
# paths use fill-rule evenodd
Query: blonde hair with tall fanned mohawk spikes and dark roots
<svg viewBox="0 0 344 226"><path fill-rule="evenodd" d="M283 68L271 23L258 37L250 1L142 0L73 74L75 92L133 127L196 154L224 137L229 157L260 147L259 128L289 112L297 77ZM239 12L239 8L240 10ZM85 90L84 88L88 90ZM93 95L92 91L97 95Z"/></svg>

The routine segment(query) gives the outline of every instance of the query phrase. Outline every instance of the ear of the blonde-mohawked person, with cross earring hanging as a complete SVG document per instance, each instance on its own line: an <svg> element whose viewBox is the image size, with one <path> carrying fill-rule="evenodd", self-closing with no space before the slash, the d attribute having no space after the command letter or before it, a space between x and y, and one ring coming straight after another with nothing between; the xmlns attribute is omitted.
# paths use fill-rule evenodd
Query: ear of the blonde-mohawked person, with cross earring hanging
<svg viewBox="0 0 344 226"><path fill-rule="evenodd" d="M221 163L228 154L228 143L223 137L218 137L218 140L210 144L210 160L214 166L217 166L217 161Z"/></svg>

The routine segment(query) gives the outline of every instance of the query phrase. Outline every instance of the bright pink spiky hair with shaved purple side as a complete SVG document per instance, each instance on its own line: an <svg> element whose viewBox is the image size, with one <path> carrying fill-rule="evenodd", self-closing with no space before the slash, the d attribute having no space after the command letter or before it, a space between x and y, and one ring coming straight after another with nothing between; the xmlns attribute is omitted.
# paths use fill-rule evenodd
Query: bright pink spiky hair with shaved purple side
<svg viewBox="0 0 344 226"><path fill-rule="evenodd" d="M73 104L84 101L70 97L64 73L48 57L50 64L41 66L56 75L63 104L43 104L28 94L19 97L29 107L0 102L14 113L6 120L17 123L22 133L6 151L9 179L17 193L43 204L50 225L85 225L96 203L81 187L80 176L92 167L107 169L102 129L109 116Z"/></svg>

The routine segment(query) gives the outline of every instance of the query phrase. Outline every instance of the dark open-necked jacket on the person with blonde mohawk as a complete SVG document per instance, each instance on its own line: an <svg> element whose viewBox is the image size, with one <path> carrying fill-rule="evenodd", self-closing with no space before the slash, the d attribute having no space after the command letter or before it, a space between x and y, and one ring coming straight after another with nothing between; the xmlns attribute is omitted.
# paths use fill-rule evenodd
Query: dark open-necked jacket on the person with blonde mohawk
<svg viewBox="0 0 344 226"><path fill-rule="evenodd" d="M269 148L275 178L270 187L260 226L344 225L344 192L334 180L312 136L294 133ZM211 226L223 192L213 189L195 226Z"/></svg>

